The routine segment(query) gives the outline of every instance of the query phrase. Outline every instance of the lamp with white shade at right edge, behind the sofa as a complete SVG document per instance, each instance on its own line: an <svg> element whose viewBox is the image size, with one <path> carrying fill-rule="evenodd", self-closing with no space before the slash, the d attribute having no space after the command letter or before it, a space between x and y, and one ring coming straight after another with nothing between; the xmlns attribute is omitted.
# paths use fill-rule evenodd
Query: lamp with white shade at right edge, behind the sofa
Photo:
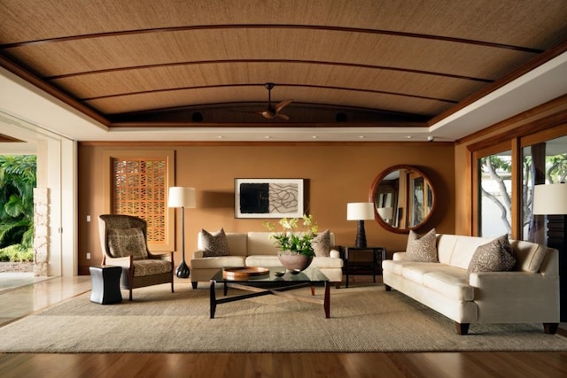
<svg viewBox="0 0 567 378"><path fill-rule="evenodd" d="M548 216L546 245L559 251L559 308L560 320L564 322L567 321L567 184L535 185L532 214ZM553 232L548 233L550 230Z"/></svg>

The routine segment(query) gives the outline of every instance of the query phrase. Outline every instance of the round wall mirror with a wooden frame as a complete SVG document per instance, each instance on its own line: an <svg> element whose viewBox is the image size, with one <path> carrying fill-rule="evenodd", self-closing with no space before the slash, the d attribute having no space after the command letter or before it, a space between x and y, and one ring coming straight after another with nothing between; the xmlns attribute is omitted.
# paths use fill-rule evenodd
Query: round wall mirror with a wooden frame
<svg viewBox="0 0 567 378"><path fill-rule="evenodd" d="M392 166L377 175L369 201L374 203L377 222L402 234L430 219L435 191L431 180L415 166Z"/></svg>

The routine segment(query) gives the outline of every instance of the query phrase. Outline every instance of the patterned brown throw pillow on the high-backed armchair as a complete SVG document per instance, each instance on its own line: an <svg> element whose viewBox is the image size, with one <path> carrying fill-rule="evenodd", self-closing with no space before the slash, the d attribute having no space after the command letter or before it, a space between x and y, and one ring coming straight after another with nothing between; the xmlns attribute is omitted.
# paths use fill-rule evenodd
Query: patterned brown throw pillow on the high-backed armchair
<svg viewBox="0 0 567 378"><path fill-rule="evenodd" d="M108 231L108 249L114 258L133 255L135 260L148 258L142 228L113 228Z"/></svg>

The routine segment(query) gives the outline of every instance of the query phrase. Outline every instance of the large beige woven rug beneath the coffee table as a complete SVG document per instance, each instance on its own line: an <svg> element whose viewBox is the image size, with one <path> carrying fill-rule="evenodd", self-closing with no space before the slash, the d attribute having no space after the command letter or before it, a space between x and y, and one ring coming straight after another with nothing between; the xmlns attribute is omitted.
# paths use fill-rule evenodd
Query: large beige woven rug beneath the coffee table
<svg viewBox="0 0 567 378"><path fill-rule="evenodd" d="M330 319L322 305L266 296L218 305L211 320L208 289L184 283L118 305L89 295L0 328L0 352L567 351L540 324L472 324L459 336L452 320L375 284L331 289Z"/></svg>

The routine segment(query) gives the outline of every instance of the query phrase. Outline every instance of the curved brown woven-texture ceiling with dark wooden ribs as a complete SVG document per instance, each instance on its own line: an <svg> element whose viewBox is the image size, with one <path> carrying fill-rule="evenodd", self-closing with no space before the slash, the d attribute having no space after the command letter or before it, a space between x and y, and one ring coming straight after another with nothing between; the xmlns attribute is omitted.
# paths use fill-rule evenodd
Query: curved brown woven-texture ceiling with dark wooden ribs
<svg viewBox="0 0 567 378"><path fill-rule="evenodd" d="M426 126L567 46L564 0L0 7L0 65L111 127Z"/></svg>

